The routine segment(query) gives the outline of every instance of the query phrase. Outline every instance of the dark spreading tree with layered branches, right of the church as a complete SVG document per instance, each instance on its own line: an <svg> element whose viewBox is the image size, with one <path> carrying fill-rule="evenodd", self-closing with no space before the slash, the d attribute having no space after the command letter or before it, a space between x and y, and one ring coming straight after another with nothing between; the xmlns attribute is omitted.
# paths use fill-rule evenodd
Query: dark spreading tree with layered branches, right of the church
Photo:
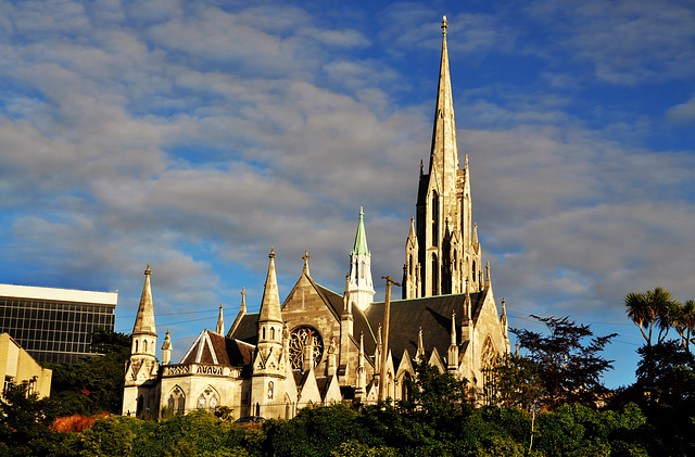
<svg viewBox="0 0 695 457"><path fill-rule="evenodd" d="M526 329L510 331L517 335L519 345L529 351L528 358L536 364L545 391L544 405L551 409L564 403L595 407L608 392L601 378L612 368L612 360L599 353L617 333L594 337L590 326L576 323L568 317L531 317L545 323L549 334Z"/></svg>

